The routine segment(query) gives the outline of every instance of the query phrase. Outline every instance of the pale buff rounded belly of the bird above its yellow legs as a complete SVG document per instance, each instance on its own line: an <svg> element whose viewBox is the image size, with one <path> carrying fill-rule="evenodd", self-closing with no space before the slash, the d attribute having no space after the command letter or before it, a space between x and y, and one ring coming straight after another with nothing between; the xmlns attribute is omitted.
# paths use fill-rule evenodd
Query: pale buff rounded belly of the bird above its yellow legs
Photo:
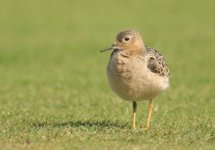
<svg viewBox="0 0 215 150"><path fill-rule="evenodd" d="M150 72L143 65L111 63L107 76L112 90L125 100L149 100L168 87L168 78Z"/></svg>

